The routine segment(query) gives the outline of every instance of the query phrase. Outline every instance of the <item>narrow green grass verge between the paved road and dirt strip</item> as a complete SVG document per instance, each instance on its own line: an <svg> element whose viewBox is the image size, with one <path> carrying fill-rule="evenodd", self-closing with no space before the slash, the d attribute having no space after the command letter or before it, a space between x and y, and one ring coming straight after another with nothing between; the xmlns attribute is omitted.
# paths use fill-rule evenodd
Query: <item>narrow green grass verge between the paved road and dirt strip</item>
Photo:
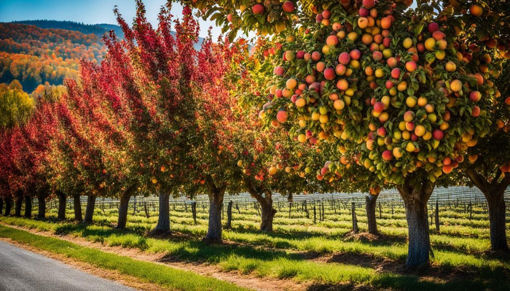
<svg viewBox="0 0 510 291"><path fill-rule="evenodd" d="M142 281L156 283L170 289L190 291L247 290L234 284L201 276L193 272L172 269L161 264L105 253L52 237L40 236L2 225L0 225L0 237L6 237L23 245L48 252L65 255L98 268L117 270L121 274L134 276Z"/></svg>

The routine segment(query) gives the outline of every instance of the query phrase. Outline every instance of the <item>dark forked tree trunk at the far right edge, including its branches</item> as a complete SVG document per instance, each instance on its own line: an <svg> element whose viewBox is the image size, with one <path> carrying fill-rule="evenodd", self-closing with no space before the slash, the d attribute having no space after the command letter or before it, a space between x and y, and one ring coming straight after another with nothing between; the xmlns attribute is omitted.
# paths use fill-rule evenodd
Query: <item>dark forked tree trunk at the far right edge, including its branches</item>
<svg viewBox="0 0 510 291"><path fill-rule="evenodd" d="M491 235L491 249L495 251L508 252L508 242L506 240L506 205L504 193L510 185L510 175L505 175L500 179L502 173L498 170L496 177L492 182L474 169L466 170L471 181L480 189L483 196L487 199L489 208L489 224Z"/></svg>

